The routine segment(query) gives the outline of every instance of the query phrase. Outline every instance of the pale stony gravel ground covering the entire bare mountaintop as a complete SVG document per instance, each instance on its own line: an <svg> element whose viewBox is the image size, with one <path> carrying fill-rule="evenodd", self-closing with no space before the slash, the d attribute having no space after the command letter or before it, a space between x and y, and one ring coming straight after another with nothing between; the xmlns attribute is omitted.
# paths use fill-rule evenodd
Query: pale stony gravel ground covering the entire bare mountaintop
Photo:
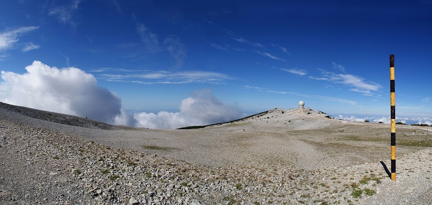
<svg viewBox="0 0 432 205"><path fill-rule="evenodd" d="M432 203L432 135L422 130L398 128L391 181L388 126L310 109L197 130L102 130L6 105L0 204Z"/></svg>

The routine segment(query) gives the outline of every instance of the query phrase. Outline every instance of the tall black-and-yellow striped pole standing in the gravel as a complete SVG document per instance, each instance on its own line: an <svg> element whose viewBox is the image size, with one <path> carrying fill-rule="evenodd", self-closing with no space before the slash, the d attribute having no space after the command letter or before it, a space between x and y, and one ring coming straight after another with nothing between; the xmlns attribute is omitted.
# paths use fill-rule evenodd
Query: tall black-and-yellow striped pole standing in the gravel
<svg viewBox="0 0 432 205"><path fill-rule="evenodd" d="M396 101L395 101L395 55L390 55L390 136L391 180L396 180Z"/></svg>

